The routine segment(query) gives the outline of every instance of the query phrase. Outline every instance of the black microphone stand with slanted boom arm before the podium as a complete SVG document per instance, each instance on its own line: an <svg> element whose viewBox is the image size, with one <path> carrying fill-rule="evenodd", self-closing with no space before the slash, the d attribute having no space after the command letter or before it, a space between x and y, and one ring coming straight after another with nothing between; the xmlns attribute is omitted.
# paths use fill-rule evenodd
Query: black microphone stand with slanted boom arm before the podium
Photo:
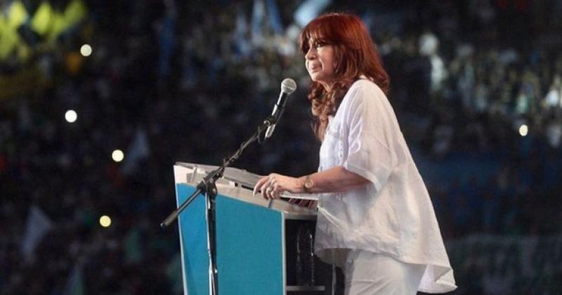
<svg viewBox="0 0 562 295"><path fill-rule="evenodd" d="M256 133L254 133L254 135L252 135L248 140L244 141L232 156L225 158L221 166L219 166L214 171L209 172L207 176L205 176L202 179L202 181L200 181L200 183L197 185L196 187L197 190L195 190L195 192L193 192L190 195L190 197L188 197L188 199L186 199L180 206L178 206L178 209L172 211L171 214L168 217L166 217L166 219L164 219L162 223L160 223L160 227L166 228L172 222L174 222L176 218L178 218L178 215L181 214L181 212L191 202L193 202L195 197L197 197L202 193L205 195L205 202L207 203L206 204L207 229L209 230L207 232L207 239L209 240L209 261L210 261L209 277L211 279L211 288L212 288L211 294L214 295L218 294L218 281L217 281L218 270L216 269L216 229L215 229L215 213L216 213L215 199L218 193L218 190L216 189L216 180L218 178L221 178L223 176L224 171L226 170L226 167L233 164L240 157L240 155L242 155L242 152L246 149L246 147L248 147L250 143L256 141L261 135L261 133L266 129L268 129L269 126L275 124L275 122L277 122L277 119L279 119L279 117L280 117L280 112L277 112L277 114L272 114L267 119L265 119L263 123L261 123L258 126L258 129L256 130Z"/></svg>

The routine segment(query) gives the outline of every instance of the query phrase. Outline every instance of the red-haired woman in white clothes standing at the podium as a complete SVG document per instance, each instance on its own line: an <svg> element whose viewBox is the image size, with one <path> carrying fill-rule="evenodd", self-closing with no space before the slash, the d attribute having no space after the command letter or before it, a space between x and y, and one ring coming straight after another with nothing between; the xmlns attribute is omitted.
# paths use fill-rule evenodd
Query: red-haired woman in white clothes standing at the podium
<svg viewBox="0 0 562 295"><path fill-rule="evenodd" d="M386 98L388 74L355 15L321 15L300 36L317 173L272 173L255 192L318 193L315 253L344 270L346 294L416 294L456 288L424 182Z"/></svg>

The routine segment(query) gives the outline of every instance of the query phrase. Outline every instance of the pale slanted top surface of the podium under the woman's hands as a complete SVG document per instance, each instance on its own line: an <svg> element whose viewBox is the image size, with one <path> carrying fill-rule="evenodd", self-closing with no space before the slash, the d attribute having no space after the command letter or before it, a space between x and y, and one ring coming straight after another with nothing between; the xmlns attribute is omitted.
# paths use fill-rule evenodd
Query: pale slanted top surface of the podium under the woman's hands
<svg viewBox="0 0 562 295"><path fill-rule="evenodd" d="M214 171L218 166L176 162L174 165L174 179L177 184L187 184L196 186L202 181L207 173ZM295 219L315 219L316 212L312 209L289 203L284 199L274 199L272 201L263 199L261 195L253 195L252 190L261 176L248 172L243 169L227 167L223 177L216 181L216 187L220 195L226 195L244 202L265 206L270 209L281 211L288 218ZM318 199L314 194L291 194L284 192L281 197L297 199Z"/></svg>

